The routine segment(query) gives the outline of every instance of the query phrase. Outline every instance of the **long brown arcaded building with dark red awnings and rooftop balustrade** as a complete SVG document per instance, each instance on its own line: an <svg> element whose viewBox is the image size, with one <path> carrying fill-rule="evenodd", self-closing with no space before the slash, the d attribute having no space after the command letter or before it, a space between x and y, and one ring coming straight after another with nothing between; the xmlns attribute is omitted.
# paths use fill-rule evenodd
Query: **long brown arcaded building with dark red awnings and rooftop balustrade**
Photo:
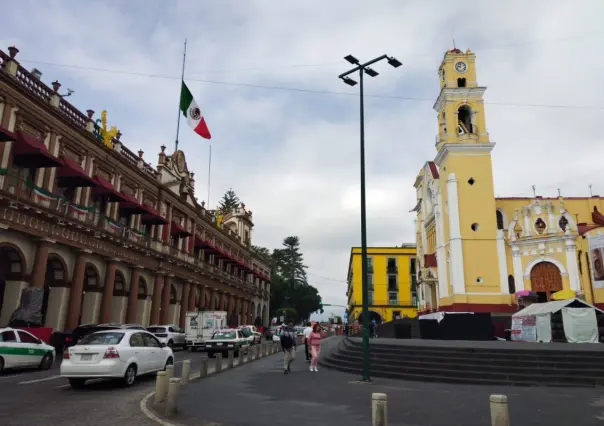
<svg viewBox="0 0 604 426"><path fill-rule="evenodd" d="M54 330L184 326L198 309L228 311L233 325L268 324L270 270L250 250L252 212L241 204L216 225L196 201L182 151L162 146L152 166L107 129L105 114L95 122L94 111L81 113L59 82L48 87L8 50L0 51L0 326L30 293L42 299L39 322Z"/></svg>

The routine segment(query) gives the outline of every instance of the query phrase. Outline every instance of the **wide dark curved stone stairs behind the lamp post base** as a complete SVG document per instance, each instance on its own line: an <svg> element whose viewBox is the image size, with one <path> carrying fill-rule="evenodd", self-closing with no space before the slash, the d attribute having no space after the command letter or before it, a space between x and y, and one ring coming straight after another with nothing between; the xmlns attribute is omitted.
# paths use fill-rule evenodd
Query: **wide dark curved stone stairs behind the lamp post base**
<svg viewBox="0 0 604 426"><path fill-rule="evenodd" d="M455 346L455 343L460 346ZM518 344L375 339L371 340L369 347L370 372L372 377L443 383L566 387L604 385L604 350L597 350L600 345L597 348L590 345L589 350L559 346L555 349L537 346L512 348L509 345ZM321 359L320 364L360 375L362 361L361 339L346 338Z"/></svg>

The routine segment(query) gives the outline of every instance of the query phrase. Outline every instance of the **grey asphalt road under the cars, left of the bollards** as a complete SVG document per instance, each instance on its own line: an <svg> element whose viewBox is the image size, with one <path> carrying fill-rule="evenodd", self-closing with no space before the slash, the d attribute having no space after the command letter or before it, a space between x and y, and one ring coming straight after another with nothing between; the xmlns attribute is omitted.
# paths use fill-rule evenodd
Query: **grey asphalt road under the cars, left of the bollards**
<svg viewBox="0 0 604 426"><path fill-rule="evenodd" d="M177 376L183 360L191 360L191 372L198 372L201 359L206 355L175 350L174 357ZM75 390L66 379L61 379L59 366L60 360L57 360L47 371L7 370L0 376L0 423L6 426L157 425L140 410L141 399L154 388L155 375L137 378L130 388L97 380L87 382L84 389Z"/></svg>

